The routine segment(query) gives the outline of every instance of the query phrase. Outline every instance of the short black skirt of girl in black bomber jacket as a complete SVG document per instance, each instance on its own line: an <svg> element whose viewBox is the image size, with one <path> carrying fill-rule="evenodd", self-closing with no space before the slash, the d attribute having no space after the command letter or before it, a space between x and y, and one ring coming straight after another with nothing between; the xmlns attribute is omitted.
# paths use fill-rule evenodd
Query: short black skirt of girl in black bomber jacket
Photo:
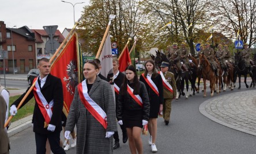
<svg viewBox="0 0 256 154"><path fill-rule="evenodd" d="M123 125L125 128L133 128L134 126L142 128L142 110L123 111Z"/></svg>

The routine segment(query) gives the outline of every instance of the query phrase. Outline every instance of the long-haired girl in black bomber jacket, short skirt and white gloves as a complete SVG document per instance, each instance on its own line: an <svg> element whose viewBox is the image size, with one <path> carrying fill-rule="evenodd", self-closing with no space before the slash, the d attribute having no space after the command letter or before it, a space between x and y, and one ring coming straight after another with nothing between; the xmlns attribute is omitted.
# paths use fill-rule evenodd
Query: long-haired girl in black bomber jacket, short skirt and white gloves
<svg viewBox="0 0 256 154"><path fill-rule="evenodd" d="M141 130L148 124L149 98L145 84L138 80L136 68L128 66L126 78L120 88L116 117L118 124L124 125L132 154L143 153Z"/></svg>

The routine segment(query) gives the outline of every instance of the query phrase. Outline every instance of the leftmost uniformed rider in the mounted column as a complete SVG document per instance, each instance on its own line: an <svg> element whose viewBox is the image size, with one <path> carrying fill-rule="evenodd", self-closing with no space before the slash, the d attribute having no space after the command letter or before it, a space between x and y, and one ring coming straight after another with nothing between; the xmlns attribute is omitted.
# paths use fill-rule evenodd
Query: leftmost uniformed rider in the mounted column
<svg viewBox="0 0 256 154"><path fill-rule="evenodd" d="M170 59L171 63L175 63L177 68L178 68L178 74L181 78L181 74L182 74L182 69L181 69L181 64L180 64L180 50L178 49L178 44L177 43L173 43L172 44L172 51L170 51L168 53L168 57Z"/></svg>

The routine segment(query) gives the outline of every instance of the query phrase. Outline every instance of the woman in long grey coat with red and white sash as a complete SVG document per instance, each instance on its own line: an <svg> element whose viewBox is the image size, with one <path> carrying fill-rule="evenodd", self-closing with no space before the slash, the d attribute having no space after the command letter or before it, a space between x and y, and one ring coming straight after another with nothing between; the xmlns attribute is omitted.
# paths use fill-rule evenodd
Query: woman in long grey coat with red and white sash
<svg viewBox="0 0 256 154"><path fill-rule="evenodd" d="M65 138L70 138L77 125L77 153L113 152L112 135L117 131L114 95L110 84L97 76L98 72L99 66L94 61L84 64L85 80L76 87L67 116ZM99 110L105 118L97 116L102 115Z"/></svg>

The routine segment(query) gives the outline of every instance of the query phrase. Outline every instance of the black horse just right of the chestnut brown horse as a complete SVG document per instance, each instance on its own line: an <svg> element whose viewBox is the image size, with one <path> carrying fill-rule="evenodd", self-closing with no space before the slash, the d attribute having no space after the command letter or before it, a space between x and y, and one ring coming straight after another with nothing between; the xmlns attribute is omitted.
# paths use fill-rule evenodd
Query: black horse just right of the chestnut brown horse
<svg viewBox="0 0 256 154"><path fill-rule="evenodd" d="M236 77L238 76L238 81L239 81L239 87L238 89L241 88L241 76L244 76L244 83L246 84L246 88L249 88L248 84L246 83L246 79L247 79L247 74L249 74L250 70L249 68L247 68L245 66L245 60L242 59L240 52L235 53L235 81L236 81ZM254 83L254 76L253 74L250 74L252 82L251 82L251 86Z"/></svg>

